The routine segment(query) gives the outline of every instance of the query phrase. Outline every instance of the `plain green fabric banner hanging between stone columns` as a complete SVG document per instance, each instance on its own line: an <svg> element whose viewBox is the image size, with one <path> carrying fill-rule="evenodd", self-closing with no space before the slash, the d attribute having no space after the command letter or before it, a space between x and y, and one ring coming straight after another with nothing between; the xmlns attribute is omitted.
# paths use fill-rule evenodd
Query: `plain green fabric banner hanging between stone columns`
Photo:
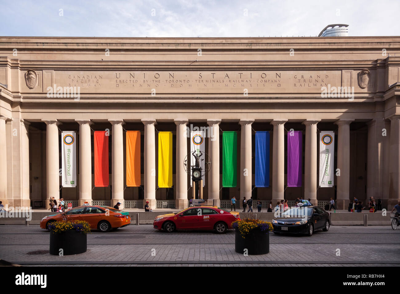
<svg viewBox="0 0 400 294"><path fill-rule="evenodd" d="M222 187L236 187L238 167L238 134L222 133Z"/></svg>

